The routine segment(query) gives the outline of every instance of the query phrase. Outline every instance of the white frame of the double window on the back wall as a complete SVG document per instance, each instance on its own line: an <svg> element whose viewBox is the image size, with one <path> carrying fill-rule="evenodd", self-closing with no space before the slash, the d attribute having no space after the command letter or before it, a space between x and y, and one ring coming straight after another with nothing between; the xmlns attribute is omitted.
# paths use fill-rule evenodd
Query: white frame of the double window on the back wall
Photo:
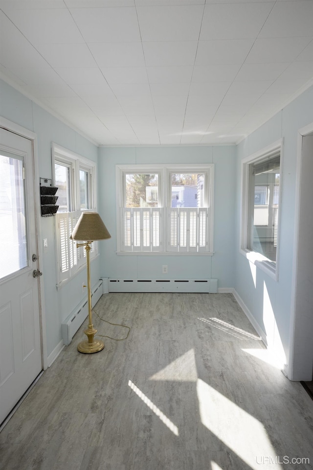
<svg viewBox="0 0 313 470"><path fill-rule="evenodd" d="M116 169L116 234L117 234L117 255L127 256L212 256L213 255L213 221L214 221L214 164L117 164ZM160 249L151 250L134 250L126 251L123 249L123 206L125 201L125 175L129 173L134 174L158 174L158 207L154 208L160 211L161 219L165 220L168 217L171 207L171 174L172 173L203 173L205 175L205 200L208 216L207 216L207 248L200 251L182 251L170 250L168 248L168 226L167 223L161 222L160 230ZM186 208L189 209L189 208ZM195 208L190 208L195 209ZM201 209L201 208L197 208Z"/></svg>

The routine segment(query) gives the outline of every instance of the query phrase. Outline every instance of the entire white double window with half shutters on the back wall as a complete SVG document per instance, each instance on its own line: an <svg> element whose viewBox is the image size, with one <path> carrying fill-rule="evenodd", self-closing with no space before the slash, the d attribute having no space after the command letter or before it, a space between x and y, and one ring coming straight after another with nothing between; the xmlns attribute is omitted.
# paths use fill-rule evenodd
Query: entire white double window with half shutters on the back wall
<svg viewBox="0 0 313 470"><path fill-rule="evenodd" d="M120 254L212 254L213 164L116 165Z"/></svg>

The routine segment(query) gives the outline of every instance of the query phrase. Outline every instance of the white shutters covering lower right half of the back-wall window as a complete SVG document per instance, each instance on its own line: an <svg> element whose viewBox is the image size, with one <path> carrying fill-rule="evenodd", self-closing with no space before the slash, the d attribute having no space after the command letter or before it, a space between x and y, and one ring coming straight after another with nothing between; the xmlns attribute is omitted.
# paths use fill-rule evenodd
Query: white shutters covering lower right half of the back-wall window
<svg viewBox="0 0 313 470"><path fill-rule="evenodd" d="M169 209L169 251L206 251L207 213L207 208Z"/></svg>

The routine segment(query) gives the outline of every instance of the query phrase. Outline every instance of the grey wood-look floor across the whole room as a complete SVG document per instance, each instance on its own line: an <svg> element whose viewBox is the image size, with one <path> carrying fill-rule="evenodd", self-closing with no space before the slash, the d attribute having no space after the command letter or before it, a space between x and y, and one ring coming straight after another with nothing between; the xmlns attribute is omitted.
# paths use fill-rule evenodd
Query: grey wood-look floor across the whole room
<svg viewBox="0 0 313 470"><path fill-rule="evenodd" d="M1 470L313 468L313 400L232 294L107 294L95 310L128 339L81 354L77 332L0 433Z"/></svg>

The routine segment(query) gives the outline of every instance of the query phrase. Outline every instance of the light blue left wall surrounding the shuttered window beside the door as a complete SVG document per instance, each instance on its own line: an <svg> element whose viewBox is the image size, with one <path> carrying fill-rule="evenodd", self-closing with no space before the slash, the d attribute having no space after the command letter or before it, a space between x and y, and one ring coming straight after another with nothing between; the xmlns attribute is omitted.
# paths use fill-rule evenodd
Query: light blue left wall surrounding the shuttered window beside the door
<svg viewBox="0 0 313 470"><path fill-rule="evenodd" d="M52 178L51 142L97 162L98 147L96 145L3 81L0 81L0 103L2 117L37 134L40 177ZM39 181L37 184L39 185ZM42 249L42 259L39 260L40 270L44 273L41 282L44 284L48 356L62 341L62 321L82 301L82 283L86 282L86 272L83 270L72 281L57 290L54 224L55 217L40 217L38 242L43 244L44 238L48 241L48 247ZM91 279L96 282L99 276L100 263L97 258L91 263Z"/></svg>

